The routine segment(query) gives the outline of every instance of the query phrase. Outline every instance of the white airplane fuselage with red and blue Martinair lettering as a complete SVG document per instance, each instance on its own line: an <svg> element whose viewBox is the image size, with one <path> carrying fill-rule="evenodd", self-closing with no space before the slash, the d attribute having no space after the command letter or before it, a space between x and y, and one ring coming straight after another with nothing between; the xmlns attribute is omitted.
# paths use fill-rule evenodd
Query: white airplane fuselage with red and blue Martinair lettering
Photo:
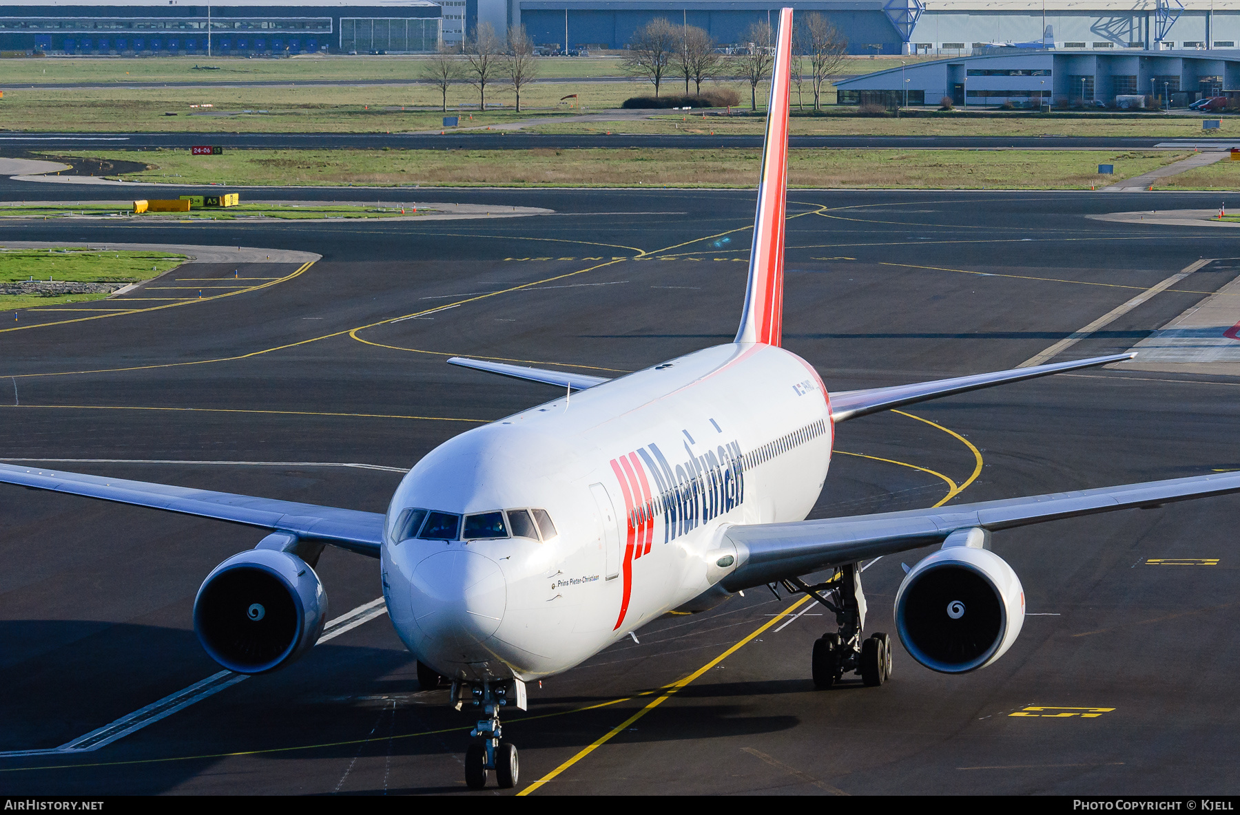
<svg viewBox="0 0 1240 815"><path fill-rule="evenodd" d="M465 432L404 477L388 529L408 508L537 508L554 533L399 543L389 533L392 623L454 679L567 670L725 576L728 525L804 519L832 440L813 368L738 343Z"/></svg>

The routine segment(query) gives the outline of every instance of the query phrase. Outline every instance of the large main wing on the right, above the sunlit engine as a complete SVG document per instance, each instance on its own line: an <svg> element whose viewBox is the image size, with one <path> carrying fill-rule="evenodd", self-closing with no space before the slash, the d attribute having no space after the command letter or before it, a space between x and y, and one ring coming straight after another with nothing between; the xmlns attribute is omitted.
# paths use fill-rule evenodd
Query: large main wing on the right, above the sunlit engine
<svg viewBox="0 0 1240 815"><path fill-rule="evenodd" d="M1216 473L899 513L729 526L724 534L735 544L740 565L722 583L728 591L761 586L941 544L961 529L994 531L1235 492L1240 492L1240 473Z"/></svg>

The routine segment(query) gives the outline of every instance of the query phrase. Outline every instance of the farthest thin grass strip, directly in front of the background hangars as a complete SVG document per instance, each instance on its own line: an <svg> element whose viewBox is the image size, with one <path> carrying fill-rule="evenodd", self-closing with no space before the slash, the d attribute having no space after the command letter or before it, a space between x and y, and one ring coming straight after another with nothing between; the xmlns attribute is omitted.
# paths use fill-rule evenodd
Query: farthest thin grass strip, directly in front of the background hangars
<svg viewBox="0 0 1240 815"><path fill-rule="evenodd" d="M925 57L901 57L904 62L920 62ZM0 82L37 85L126 82L387 82L415 79L424 57L343 57L306 56L291 59L247 59L243 57L42 57L5 59ZM200 66L195 68L195 66ZM218 68L206 71L202 66ZM841 74L861 74L898 68L900 58L861 57L847 59ZM538 73L549 79L559 77L619 77L620 58L541 57Z"/></svg>

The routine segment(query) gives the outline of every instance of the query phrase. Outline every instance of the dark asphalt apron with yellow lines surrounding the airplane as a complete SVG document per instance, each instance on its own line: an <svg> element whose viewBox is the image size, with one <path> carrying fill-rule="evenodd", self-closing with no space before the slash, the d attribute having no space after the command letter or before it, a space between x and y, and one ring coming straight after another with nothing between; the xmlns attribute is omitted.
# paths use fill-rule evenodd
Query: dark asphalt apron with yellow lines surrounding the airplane
<svg viewBox="0 0 1240 815"><path fill-rule="evenodd" d="M35 186L14 183L0 198ZM556 212L0 223L0 243L322 255L305 269L196 264L60 307L83 311L0 312L0 456L382 512L399 471L435 445L557 395L448 355L621 372L733 337L753 192L430 194ZM1203 256L1240 255L1231 230L1084 217L1135 208L1133 196L794 191L785 344L832 390L1011 368ZM1140 206L1216 202L1140 193ZM1059 358L1125 351L1238 274L1209 264ZM408 318L383 322L397 317ZM1240 468L1238 384L1095 370L851 421L813 514L929 507L960 486L952 503ZM889 684L816 691L810 648L827 618L801 606L534 794L1230 793L1238 508L1216 498L996 534L1030 616L1006 656L963 676L920 668L897 642ZM192 633L193 596L260 533L4 487L0 518L0 751L55 748L218 670ZM900 561L925 554L866 571L868 630L893 630ZM1216 564L1151 564L1168 559ZM317 571L329 617L379 597L372 560L329 550ZM531 686L528 716L505 725L521 748L518 791L657 697L640 694L790 604L753 590L667 616ZM418 690L379 617L97 751L0 756L0 791L467 795L471 725L446 691Z"/></svg>

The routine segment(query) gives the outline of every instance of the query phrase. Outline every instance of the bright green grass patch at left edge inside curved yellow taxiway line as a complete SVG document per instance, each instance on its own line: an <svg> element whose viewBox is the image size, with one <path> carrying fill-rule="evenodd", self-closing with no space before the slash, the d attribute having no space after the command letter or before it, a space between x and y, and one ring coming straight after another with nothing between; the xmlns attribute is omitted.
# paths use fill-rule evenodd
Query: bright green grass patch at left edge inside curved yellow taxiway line
<svg viewBox="0 0 1240 815"><path fill-rule="evenodd" d="M5 249L0 246L0 282L57 280L69 282L138 282L185 263L185 255L162 251L92 251L83 246ZM107 294L0 295L0 311L103 300Z"/></svg>

